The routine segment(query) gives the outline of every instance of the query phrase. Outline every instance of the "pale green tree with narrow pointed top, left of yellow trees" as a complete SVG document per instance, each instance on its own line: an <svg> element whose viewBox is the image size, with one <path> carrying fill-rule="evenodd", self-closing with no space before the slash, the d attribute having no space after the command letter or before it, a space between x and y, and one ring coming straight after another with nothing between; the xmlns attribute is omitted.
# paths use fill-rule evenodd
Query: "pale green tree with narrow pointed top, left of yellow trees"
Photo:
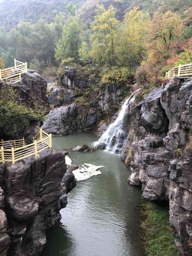
<svg viewBox="0 0 192 256"><path fill-rule="evenodd" d="M56 45L55 58L57 61L62 61L63 59L71 57L78 62L79 49L83 41L83 32L86 26L84 26L77 15L73 16L75 7L71 5L71 2L67 7L69 10L69 18L64 25L62 37L58 40Z"/></svg>

